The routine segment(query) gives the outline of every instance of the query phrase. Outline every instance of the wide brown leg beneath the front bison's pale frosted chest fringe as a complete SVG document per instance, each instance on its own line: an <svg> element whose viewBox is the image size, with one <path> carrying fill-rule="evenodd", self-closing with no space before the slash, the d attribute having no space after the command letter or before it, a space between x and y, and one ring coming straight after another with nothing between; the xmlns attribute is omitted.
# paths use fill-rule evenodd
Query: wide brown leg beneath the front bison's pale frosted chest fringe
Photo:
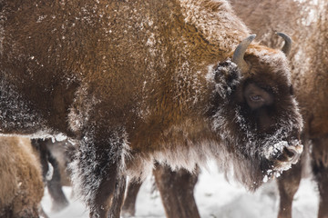
<svg viewBox="0 0 328 218"><path fill-rule="evenodd" d="M168 218L200 217L193 196L198 174L191 174L184 169L172 172L169 166L159 164L153 173Z"/></svg>

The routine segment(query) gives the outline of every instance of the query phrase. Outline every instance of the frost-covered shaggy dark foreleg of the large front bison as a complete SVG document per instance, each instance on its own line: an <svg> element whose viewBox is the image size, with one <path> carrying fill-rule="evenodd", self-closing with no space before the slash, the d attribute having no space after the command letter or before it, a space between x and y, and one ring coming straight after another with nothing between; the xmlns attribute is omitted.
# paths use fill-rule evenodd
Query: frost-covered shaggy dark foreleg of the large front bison
<svg viewBox="0 0 328 218"><path fill-rule="evenodd" d="M87 203L91 218L118 218L118 214L108 213L117 213L118 210L111 210L112 206L117 206L113 202L123 201L120 200L120 193L125 189L125 177L122 174L128 146L126 137L115 132L100 134L101 138L98 139L91 133L81 139L74 161L70 163L73 183ZM108 137L102 138L104 135ZM117 189L120 191L117 192ZM120 210L121 205L118 206Z"/></svg>

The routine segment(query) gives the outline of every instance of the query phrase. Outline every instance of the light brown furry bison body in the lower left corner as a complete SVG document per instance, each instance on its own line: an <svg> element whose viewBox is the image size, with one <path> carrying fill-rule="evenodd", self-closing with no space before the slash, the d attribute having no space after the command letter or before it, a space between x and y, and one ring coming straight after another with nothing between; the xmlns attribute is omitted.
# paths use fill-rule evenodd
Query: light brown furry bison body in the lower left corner
<svg viewBox="0 0 328 218"><path fill-rule="evenodd" d="M37 218L44 193L41 166L30 140L0 138L0 216Z"/></svg>

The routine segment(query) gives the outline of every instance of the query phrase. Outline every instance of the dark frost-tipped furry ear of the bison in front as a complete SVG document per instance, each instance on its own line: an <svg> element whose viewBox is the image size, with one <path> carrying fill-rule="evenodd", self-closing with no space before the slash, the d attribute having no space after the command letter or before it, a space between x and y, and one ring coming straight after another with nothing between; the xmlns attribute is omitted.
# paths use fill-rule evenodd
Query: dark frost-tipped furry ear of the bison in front
<svg viewBox="0 0 328 218"><path fill-rule="evenodd" d="M236 86L241 82L241 71L237 64L227 60L220 63L215 71L215 89L222 98L231 95Z"/></svg>

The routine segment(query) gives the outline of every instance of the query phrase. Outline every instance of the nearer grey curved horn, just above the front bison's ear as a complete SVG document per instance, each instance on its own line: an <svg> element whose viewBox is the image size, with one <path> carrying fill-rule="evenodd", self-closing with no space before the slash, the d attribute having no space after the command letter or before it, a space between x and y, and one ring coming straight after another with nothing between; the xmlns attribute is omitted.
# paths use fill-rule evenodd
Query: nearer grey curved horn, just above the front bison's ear
<svg viewBox="0 0 328 218"><path fill-rule="evenodd" d="M244 54L248 45L251 44L251 41L255 38L256 35L250 35L244 40L242 40L241 44L237 46L236 50L233 52L232 55L232 62L238 65L241 69L241 72L247 72L249 70L249 65L243 59Z"/></svg>

